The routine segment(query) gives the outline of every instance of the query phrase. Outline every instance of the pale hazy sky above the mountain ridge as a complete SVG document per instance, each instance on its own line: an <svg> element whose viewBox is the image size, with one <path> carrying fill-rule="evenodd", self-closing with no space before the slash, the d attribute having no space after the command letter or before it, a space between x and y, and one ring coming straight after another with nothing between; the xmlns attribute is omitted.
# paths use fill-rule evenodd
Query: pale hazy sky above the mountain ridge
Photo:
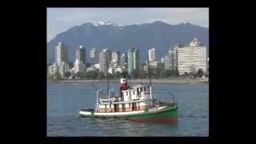
<svg viewBox="0 0 256 144"><path fill-rule="evenodd" d="M154 21L175 25L190 22L209 27L208 8L47 8L47 42L57 34L86 22L121 25Z"/></svg>

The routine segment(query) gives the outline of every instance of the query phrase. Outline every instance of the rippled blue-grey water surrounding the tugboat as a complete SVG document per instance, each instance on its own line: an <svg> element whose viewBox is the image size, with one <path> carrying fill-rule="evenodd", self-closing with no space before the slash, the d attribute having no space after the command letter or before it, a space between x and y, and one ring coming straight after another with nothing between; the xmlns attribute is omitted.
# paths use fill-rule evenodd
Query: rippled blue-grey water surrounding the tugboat
<svg viewBox="0 0 256 144"><path fill-rule="evenodd" d="M81 118L78 110L94 108L96 91L106 83L47 83L47 136L157 137L209 135L209 84L154 84L154 98L178 101L174 124L130 122L115 118ZM118 84L110 83L110 88Z"/></svg>

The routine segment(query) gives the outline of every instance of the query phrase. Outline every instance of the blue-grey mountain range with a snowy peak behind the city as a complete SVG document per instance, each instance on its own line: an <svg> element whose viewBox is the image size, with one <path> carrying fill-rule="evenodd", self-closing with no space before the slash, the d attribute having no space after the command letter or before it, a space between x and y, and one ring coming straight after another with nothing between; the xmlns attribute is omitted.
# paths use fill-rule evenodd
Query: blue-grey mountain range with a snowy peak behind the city
<svg viewBox="0 0 256 144"><path fill-rule="evenodd" d="M47 43L47 63L54 62L54 47L58 42L68 46L69 62L74 62L75 50L80 45L86 47L87 62L91 47L96 47L97 50L109 48L127 54L130 46L139 49L140 61L145 62L150 48L155 48L157 58L160 59L167 53L170 46L176 43L187 46L192 38L198 38L208 49L209 29L189 22L170 25L156 21L128 26L112 22L96 24L86 22L58 34Z"/></svg>

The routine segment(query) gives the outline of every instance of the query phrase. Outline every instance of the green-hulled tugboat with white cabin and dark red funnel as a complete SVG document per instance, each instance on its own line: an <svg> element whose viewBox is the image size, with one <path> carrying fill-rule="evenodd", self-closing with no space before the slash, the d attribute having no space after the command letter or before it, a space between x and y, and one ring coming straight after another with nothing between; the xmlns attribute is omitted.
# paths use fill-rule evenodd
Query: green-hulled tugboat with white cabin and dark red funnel
<svg viewBox="0 0 256 144"><path fill-rule="evenodd" d="M109 90L107 81L108 94L98 90L95 109L79 110L79 115L89 118L125 118L133 122L178 122L178 102L174 101L173 94L172 102L157 102L153 98L151 82L150 85L141 83L130 88L126 78L120 81L119 94L114 89Z"/></svg>

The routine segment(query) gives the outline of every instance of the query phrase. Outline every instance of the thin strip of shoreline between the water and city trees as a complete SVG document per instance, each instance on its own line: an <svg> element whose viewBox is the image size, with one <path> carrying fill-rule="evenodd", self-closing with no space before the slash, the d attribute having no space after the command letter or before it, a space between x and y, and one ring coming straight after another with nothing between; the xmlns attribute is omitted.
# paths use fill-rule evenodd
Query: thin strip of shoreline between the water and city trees
<svg viewBox="0 0 256 144"><path fill-rule="evenodd" d="M150 83L149 79L127 79L129 83ZM47 83L66 83L66 82L107 82L106 79L82 79L82 80L59 80L59 81L47 81ZM120 83L118 79L110 79L111 83ZM152 84L197 84L197 83L209 83L208 79L173 79L173 78L162 78L162 79L151 79Z"/></svg>

